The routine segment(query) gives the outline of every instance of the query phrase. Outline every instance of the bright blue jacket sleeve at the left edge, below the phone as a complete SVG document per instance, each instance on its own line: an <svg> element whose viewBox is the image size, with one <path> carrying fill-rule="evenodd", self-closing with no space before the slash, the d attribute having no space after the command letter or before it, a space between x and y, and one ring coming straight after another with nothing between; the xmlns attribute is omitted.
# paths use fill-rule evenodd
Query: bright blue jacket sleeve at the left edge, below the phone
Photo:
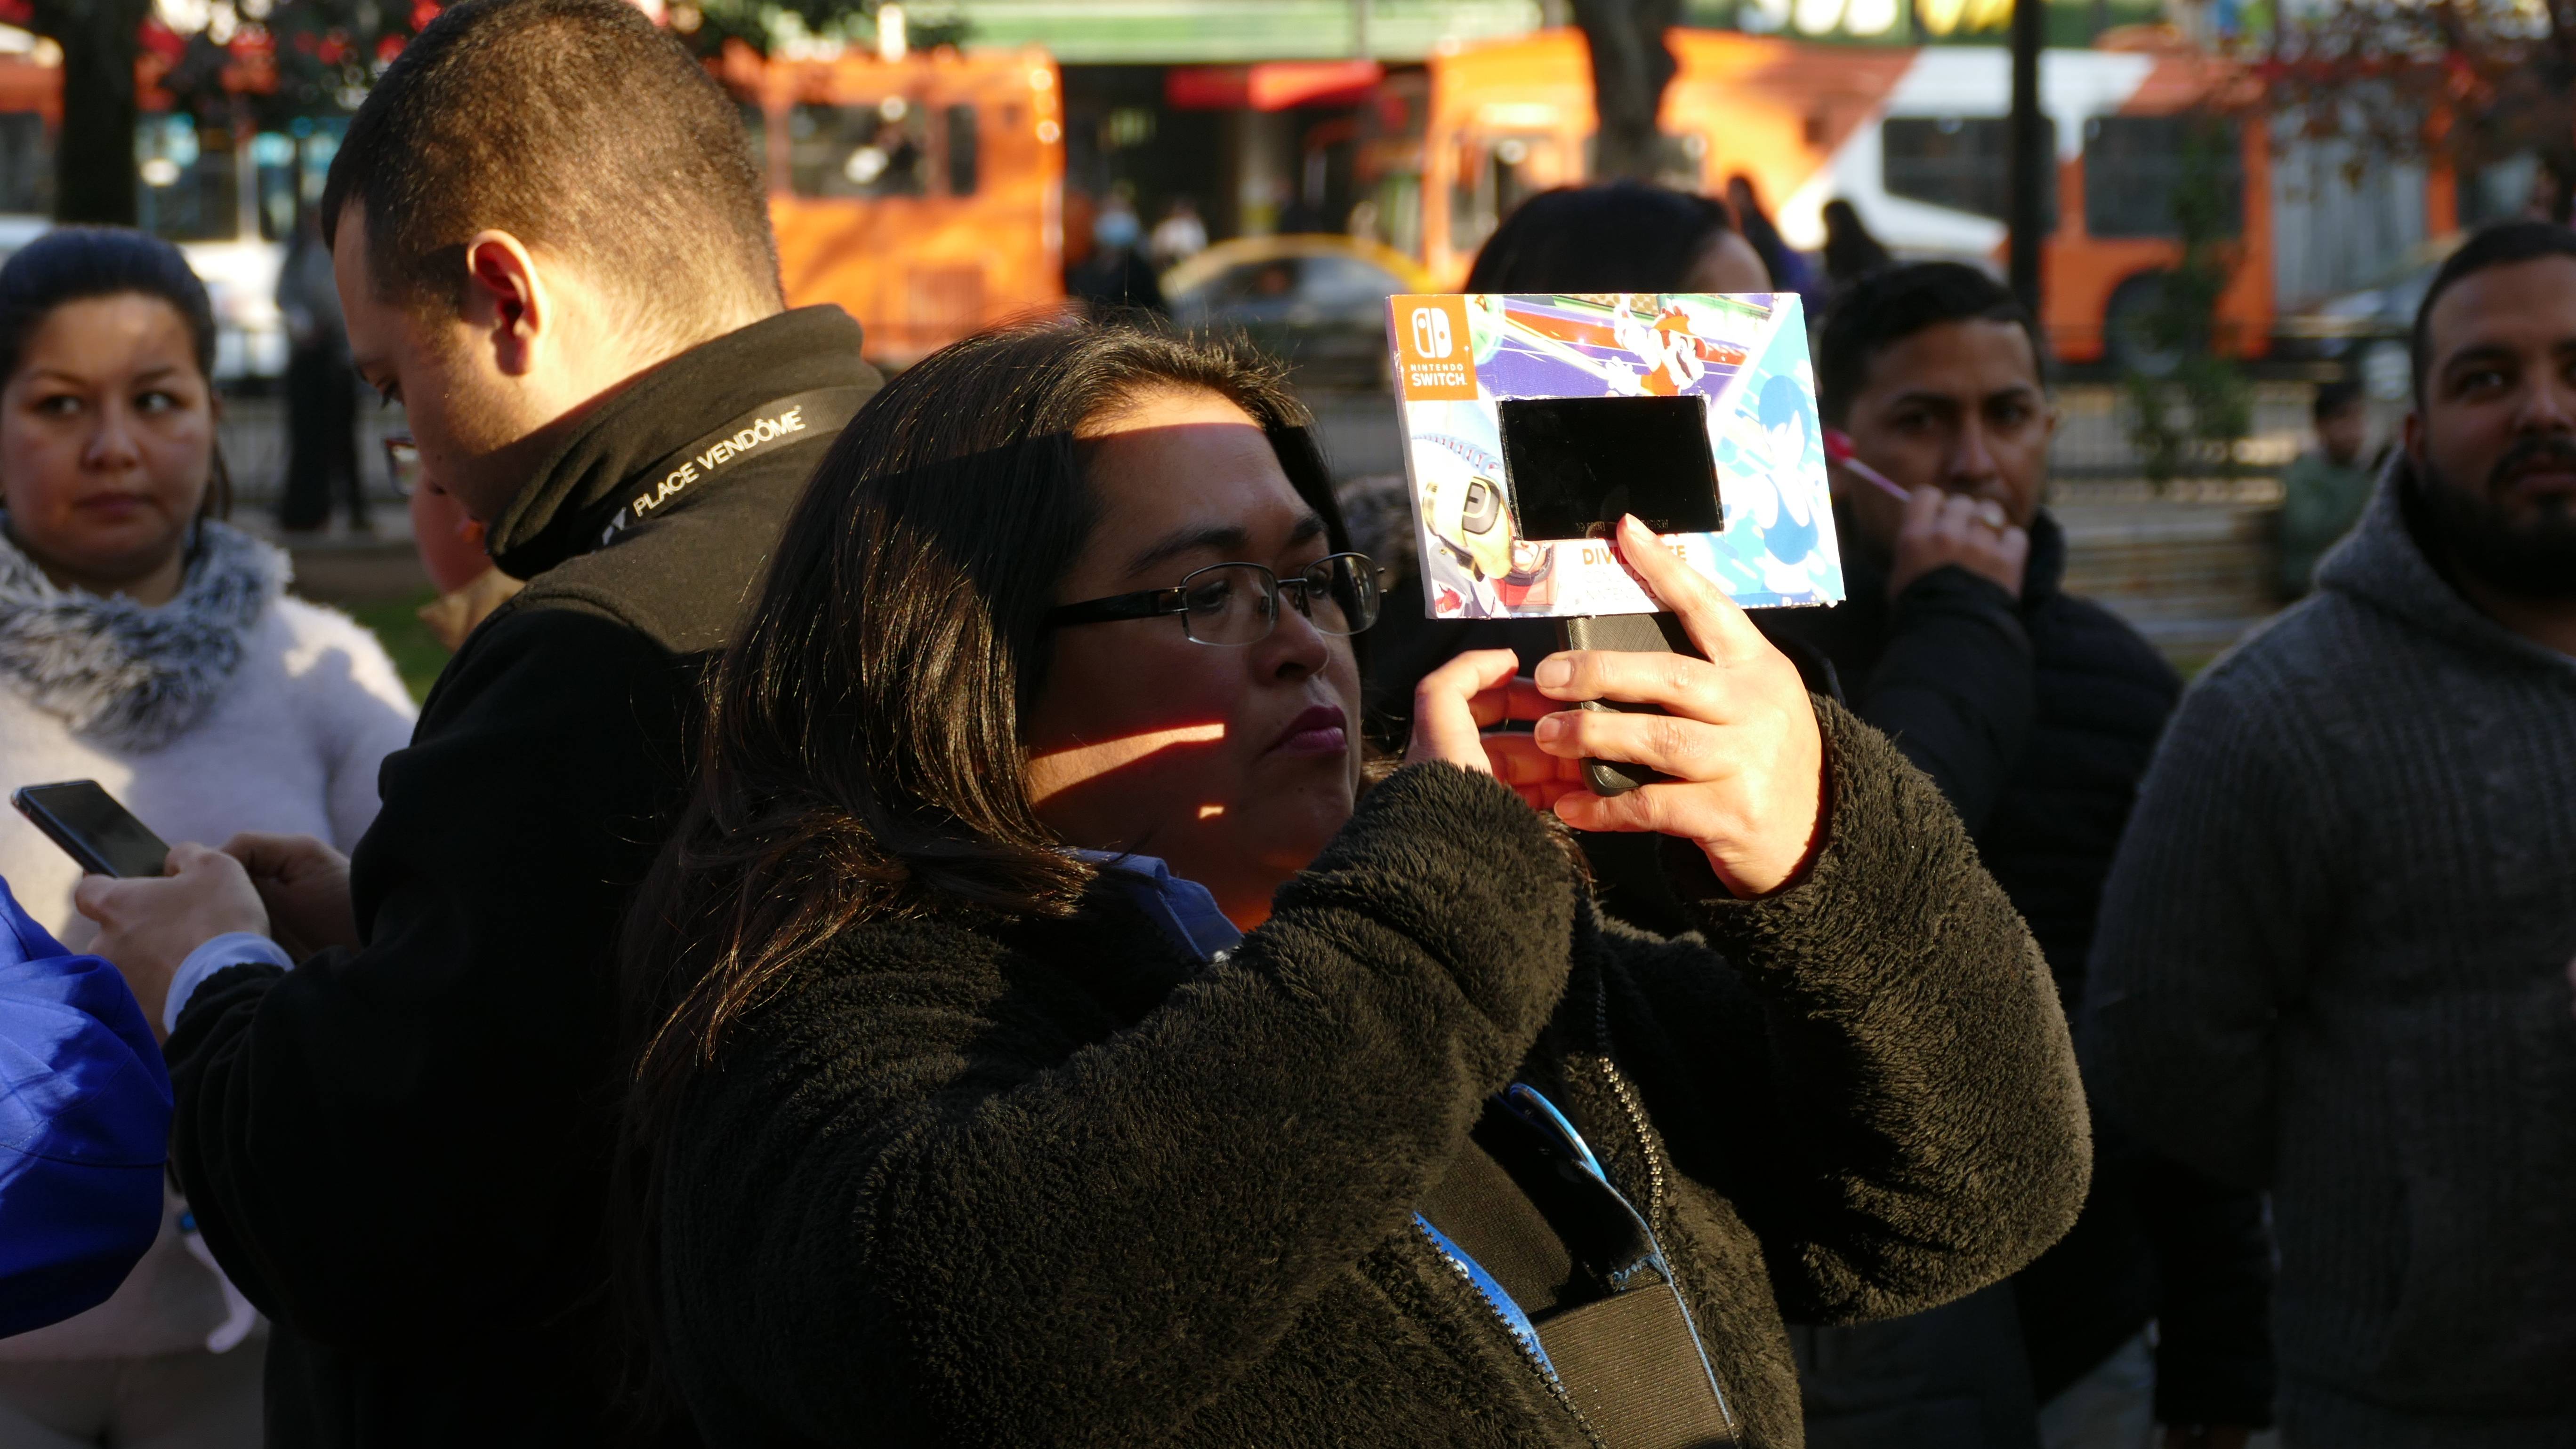
<svg viewBox="0 0 2576 1449"><path fill-rule="evenodd" d="M116 1292L152 1246L170 1073L126 978L0 880L0 1336Z"/></svg>

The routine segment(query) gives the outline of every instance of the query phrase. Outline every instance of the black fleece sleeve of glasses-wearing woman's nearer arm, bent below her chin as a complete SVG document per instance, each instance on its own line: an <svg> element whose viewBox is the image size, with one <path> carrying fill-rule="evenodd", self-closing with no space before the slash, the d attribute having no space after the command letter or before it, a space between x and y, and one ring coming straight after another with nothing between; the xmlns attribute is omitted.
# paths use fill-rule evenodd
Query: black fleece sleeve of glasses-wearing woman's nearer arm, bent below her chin
<svg viewBox="0 0 2576 1449"><path fill-rule="evenodd" d="M817 1441L1185 1434L1445 1171L1564 991L1574 898L1510 790L1427 764L1123 1029L1103 1001L1190 973L1136 965L1141 916L858 932L672 1143L665 1320L729 1380L693 1403Z"/></svg>

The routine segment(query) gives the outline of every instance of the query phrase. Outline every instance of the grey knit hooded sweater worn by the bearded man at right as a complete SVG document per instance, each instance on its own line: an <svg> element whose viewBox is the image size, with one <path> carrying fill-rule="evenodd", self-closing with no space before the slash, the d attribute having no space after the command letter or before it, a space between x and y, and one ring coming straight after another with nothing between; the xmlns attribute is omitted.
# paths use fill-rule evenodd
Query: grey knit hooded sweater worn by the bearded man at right
<svg viewBox="0 0 2576 1449"><path fill-rule="evenodd" d="M2576 1444L2576 659L2470 607L2396 474L2210 667L2092 957L2099 1086L2269 1186L2293 1444Z"/></svg>

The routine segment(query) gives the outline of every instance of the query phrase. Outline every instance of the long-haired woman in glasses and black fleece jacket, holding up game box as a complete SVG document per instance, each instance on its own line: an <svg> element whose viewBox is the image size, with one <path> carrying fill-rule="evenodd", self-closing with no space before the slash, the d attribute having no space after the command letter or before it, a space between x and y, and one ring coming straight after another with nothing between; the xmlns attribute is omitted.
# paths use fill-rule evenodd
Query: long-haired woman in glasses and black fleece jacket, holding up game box
<svg viewBox="0 0 2576 1449"><path fill-rule="evenodd" d="M631 921L631 1287L708 1444L1795 1444L1785 1318L2071 1220L1940 795L1633 522L1713 664L1468 654L1373 764L1301 420L1051 324L819 468ZM1605 927L1551 813L1667 834L1705 939Z"/></svg>

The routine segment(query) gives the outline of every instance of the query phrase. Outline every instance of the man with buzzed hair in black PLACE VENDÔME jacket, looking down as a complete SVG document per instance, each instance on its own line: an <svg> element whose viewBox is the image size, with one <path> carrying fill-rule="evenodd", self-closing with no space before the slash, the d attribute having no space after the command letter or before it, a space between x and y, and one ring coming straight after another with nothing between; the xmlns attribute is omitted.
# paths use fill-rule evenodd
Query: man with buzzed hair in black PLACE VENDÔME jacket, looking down
<svg viewBox="0 0 2576 1449"><path fill-rule="evenodd" d="M430 690L350 860L183 844L80 909L170 1029L206 1243L276 1320L270 1444L629 1444L618 921L698 667L876 373L842 311L783 311L734 103L618 0L438 15L322 216L361 376L528 587Z"/></svg>

